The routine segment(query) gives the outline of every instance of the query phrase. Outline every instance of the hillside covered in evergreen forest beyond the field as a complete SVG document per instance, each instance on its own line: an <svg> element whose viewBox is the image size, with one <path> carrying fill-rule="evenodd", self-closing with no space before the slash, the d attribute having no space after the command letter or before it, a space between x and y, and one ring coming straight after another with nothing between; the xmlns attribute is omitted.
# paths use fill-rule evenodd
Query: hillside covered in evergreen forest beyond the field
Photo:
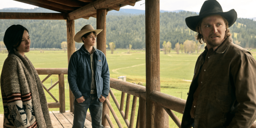
<svg viewBox="0 0 256 128"><path fill-rule="evenodd" d="M13 10L0 10L12 12ZM17 12L14 11L14 12ZM47 12L42 8L20 9L18 12ZM145 48L145 15L119 14L107 15L107 44L114 42L116 48L133 49ZM185 23L188 16L197 15L195 12L161 12L160 13L160 48L164 41L171 42L172 48L176 43L183 44L186 40L195 40L196 33ZM21 24L28 28L32 48L61 48L61 43L67 41L65 20L0 20L0 41L5 30L13 24ZM91 24L96 28L96 18L75 20L75 32L84 25ZM238 18L230 28L236 44L246 48L256 48L256 21ZM79 48L80 44L76 44Z"/></svg>

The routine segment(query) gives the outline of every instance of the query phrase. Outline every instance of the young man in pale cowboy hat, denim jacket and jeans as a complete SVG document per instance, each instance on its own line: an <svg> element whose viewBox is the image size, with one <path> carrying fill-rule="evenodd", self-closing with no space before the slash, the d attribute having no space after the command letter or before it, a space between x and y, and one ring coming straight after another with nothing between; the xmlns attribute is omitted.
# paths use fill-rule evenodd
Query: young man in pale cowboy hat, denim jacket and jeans
<svg viewBox="0 0 256 128"><path fill-rule="evenodd" d="M85 25L74 37L76 42L84 45L72 54L68 64L68 83L76 98L73 128L84 127L88 108L92 128L103 128L102 102L109 92L109 69L104 53L93 47L100 32L91 25Z"/></svg>

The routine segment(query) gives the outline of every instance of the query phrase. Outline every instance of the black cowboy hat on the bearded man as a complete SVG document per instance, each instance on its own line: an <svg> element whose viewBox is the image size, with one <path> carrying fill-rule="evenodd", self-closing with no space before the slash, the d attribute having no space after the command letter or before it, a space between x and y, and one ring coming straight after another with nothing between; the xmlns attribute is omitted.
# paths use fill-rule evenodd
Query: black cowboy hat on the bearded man
<svg viewBox="0 0 256 128"><path fill-rule="evenodd" d="M206 0L202 5L202 8L198 16L190 16L185 19L188 28L196 31L196 26L200 20L209 15L221 15L228 21L228 27L232 26L237 18L236 11L234 9L228 12L223 12L220 3L216 0Z"/></svg>

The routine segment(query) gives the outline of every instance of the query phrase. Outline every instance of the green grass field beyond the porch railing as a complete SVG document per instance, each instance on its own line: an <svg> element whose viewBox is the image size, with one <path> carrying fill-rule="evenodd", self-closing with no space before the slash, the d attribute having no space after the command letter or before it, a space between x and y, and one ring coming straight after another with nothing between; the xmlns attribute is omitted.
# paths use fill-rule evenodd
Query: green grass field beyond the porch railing
<svg viewBox="0 0 256 128"><path fill-rule="evenodd" d="M145 51L136 51L132 50L130 54L126 54L128 50L119 49L115 50L114 54L111 54L110 51L107 51L107 61L110 71L110 77L118 78L119 76L126 76L126 81L139 82L146 85L146 59ZM252 54L256 53L256 50L251 50ZM35 68L68 68L68 57L67 52L64 51L30 51L25 53L29 58ZM174 51L170 54L164 54L160 52L160 82L161 82L161 92L182 98L187 99L187 93L189 89L190 82L193 78L194 67L196 59L199 56L198 54L176 54ZM7 54L0 53L0 71L2 71L3 63ZM254 56L255 58L255 56ZM41 80L44 79L46 75L40 75ZM48 78L43 84L49 88L58 80L58 75L52 75ZM120 103L121 92L115 89L112 89L116 99ZM58 86L55 86L50 90L50 92L59 99ZM48 102L55 102L51 96L46 93ZM1 96L0 96L1 98ZM66 110L69 110L69 92L67 85L67 75L65 75L65 100L66 100ZM126 99L126 98L125 98ZM0 99L2 100L2 98ZM137 109L138 112L138 103L137 99ZM115 107L115 103L110 99L111 105L116 111L116 115L119 117L120 122L123 127L127 127L123 121L122 116ZM125 106L125 105L124 105ZM132 97L130 101L130 111L132 108ZM124 108L125 109L125 108ZM50 108L50 111L59 111L59 108ZM176 116L181 120L182 114L174 112ZM0 103L0 114L3 114L3 105ZM137 114L136 114L137 116ZM117 127L113 116L110 114L111 121ZM130 120L130 116L128 117ZM136 124L136 118L134 121L134 127ZM170 128L177 128L176 124L169 117L169 126Z"/></svg>

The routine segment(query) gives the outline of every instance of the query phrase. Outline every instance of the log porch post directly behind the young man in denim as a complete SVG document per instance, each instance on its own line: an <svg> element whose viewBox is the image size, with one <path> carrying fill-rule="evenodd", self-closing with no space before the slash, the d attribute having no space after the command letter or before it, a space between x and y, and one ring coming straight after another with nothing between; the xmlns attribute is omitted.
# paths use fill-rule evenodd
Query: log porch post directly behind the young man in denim
<svg viewBox="0 0 256 128"><path fill-rule="evenodd" d="M96 25L97 29L103 29L98 35L97 35L97 49L102 51L106 56L106 15L107 10L106 9L97 9L97 17L96 17ZM107 97L108 100L110 100L109 95ZM105 102L103 102L103 110L102 110L102 125L109 126L106 114L109 115L109 108L108 105Z"/></svg>

